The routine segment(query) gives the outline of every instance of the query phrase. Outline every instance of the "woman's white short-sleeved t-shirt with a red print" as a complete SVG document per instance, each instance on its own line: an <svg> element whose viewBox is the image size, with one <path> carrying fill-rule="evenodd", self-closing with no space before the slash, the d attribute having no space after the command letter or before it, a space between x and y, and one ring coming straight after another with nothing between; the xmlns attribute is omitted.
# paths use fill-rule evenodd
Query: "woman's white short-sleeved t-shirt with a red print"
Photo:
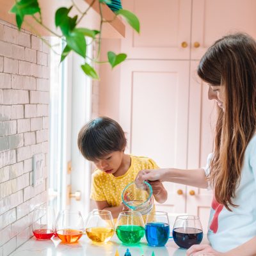
<svg viewBox="0 0 256 256"><path fill-rule="evenodd" d="M209 175L207 158L205 174ZM212 247L219 252L227 252L256 236L256 136L248 144L244 154L241 182L232 202L238 207L228 211L213 198L207 237Z"/></svg>

